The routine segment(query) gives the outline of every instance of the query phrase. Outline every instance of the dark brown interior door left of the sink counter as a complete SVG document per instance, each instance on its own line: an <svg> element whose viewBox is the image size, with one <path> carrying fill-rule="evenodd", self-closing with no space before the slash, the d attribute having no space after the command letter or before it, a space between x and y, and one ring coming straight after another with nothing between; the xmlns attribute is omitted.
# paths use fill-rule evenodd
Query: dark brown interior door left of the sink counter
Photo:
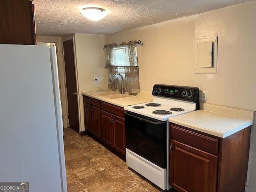
<svg viewBox="0 0 256 192"><path fill-rule="evenodd" d="M73 40L64 41L63 48L68 96L69 127L79 133L78 99L76 90L76 70L74 61Z"/></svg>

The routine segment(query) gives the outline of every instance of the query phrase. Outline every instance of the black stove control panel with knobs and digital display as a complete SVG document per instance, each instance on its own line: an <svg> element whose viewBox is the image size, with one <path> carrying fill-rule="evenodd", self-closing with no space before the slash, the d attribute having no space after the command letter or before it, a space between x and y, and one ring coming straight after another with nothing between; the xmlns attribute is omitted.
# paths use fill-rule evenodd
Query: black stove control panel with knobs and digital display
<svg viewBox="0 0 256 192"><path fill-rule="evenodd" d="M152 95L198 102L199 89L197 87L156 84L153 87Z"/></svg>

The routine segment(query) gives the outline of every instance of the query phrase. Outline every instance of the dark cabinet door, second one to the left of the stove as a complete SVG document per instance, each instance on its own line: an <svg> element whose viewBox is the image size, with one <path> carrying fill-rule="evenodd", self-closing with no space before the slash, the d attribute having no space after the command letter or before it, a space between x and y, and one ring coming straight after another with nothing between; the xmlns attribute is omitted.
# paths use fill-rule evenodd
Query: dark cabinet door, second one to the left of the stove
<svg viewBox="0 0 256 192"><path fill-rule="evenodd" d="M101 111L102 142L112 147L112 114Z"/></svg>

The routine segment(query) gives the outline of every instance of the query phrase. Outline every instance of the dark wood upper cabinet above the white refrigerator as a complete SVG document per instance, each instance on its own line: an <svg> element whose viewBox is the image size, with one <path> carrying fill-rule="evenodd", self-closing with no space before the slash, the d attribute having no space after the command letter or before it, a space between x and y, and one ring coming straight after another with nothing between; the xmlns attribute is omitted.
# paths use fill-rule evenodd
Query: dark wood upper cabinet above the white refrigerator
<svg viewBox="0 0 256 192"><path fill-rule="evenodd" d="M0 0L0 43L35 44L34 4L30 0Z"/></svg>

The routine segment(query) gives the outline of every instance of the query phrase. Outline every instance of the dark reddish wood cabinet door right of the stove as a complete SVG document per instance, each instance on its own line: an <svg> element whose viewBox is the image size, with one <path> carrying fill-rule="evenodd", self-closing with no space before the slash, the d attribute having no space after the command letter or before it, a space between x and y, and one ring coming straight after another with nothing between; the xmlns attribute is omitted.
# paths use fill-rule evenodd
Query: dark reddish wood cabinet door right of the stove
<svg viewBox="0 0 256 192"><path fill-rule="evenodd" d="M216 192L218 157L170 140L169 184L179 192Z"/></svg>

